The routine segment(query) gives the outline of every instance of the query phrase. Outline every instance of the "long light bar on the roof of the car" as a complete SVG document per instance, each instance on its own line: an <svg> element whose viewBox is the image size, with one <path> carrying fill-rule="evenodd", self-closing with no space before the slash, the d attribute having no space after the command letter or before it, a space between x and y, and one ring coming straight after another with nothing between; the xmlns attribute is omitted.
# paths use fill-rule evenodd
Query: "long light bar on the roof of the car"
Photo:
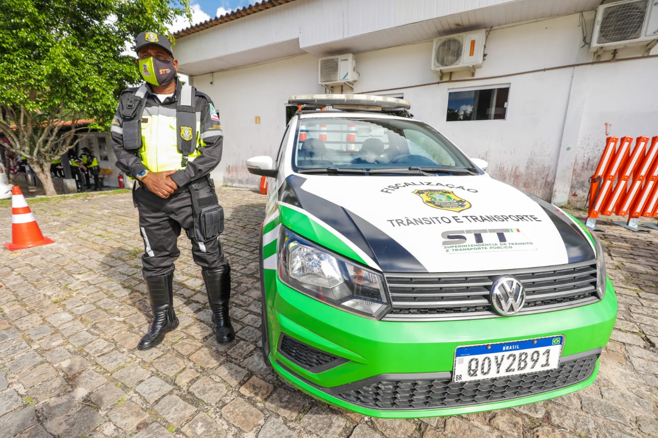
<svg viewBox="0 0 658 438"><path fill-rule="evenodd" d="M300 94L290 96L290 105L307 105L309 107L378 107L382 110L404 110L411 108L411 103L397 97L374 96L367 94Z"/></svg>

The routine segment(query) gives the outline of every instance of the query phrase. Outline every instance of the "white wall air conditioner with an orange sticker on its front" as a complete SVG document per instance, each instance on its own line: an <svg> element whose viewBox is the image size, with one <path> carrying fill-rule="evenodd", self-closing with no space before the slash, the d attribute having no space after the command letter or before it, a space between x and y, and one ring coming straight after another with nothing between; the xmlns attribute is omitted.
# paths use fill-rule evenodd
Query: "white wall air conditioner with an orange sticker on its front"
<svg viewBox="0 0 658 438"><path fill-rule="evenodd" d="M484 29L434 38L432 70L454 72L465 68L478 68L484 59Z"/></svg>

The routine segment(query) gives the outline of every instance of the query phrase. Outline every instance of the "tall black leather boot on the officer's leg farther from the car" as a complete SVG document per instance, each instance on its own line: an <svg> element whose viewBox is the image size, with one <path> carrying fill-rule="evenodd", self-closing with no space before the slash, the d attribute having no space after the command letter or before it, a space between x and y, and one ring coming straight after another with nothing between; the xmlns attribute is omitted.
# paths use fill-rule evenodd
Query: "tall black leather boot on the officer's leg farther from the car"
<svg viewBox="0 0 658 438"><path fill-rule="evenodd" d="M178 318L174 313L174 274L146 278L146 290L149 293L153 323L149 333L139 341L138 350L148 350L164 339L164 333L178 327Z"/></svg>

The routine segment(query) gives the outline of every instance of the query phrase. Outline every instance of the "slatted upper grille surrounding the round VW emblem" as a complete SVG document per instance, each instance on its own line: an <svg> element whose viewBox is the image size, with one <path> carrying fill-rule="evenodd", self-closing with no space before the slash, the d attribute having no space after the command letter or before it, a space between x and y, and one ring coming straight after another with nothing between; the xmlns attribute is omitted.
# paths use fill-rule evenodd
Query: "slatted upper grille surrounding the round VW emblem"
<svg viewBox="0 0 658 438"><path fill-rule="evenodd" d="M596 261L542 268L447 274L385 273L392 308L384 320L451 320L499 316L490 287L501 275L521 281L526 304L518 314L563 310L596 303Z"/></svg>

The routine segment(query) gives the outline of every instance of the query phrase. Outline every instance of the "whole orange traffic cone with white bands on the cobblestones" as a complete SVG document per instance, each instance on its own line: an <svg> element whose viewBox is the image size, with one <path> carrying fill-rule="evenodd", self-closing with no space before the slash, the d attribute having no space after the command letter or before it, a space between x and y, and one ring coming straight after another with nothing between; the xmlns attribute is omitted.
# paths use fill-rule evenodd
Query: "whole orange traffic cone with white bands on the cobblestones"
<svg viewBox="0 0 658 438"><path fill-rule="evenodd" d="M51 239L41 234L34 214L18 185L11 187L11 235L12 243L5 244L5 248L9 251L53 243Z"/></svg>

